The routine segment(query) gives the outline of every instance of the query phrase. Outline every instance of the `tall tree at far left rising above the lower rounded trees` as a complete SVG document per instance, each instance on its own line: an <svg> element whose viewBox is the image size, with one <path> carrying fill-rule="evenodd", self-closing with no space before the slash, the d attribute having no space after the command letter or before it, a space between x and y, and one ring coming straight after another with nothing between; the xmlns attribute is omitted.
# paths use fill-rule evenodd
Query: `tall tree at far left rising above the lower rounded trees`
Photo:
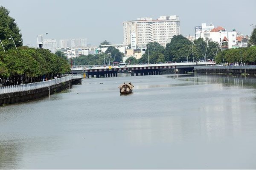
<svg viewBox="0 0 256 170"><path fill-rule="evenodd" d="M0 6L0 40L6 51L15 48L13 41L9 39L11 36L17 47L22 46L22 35L15 23L15 19L9 16L9 11L6 8ZM2 47L0 48L0 51L3 51Z"/></svg>

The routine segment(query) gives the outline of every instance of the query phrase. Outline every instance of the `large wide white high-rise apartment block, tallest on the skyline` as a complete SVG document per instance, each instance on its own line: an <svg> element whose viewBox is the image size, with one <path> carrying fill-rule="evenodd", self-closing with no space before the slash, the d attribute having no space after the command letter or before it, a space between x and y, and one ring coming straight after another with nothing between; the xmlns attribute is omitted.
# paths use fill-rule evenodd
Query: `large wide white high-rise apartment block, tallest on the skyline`
<svg viewBox="0 0 256 170"><path fill-rule="evenodd" d="M166 46L167 40L180 34L179 16L161 16L152 18L137 18L123 23L124 44L134 48L144 48L149 42L158 42ZM134 41L134 42L133 42Z"/></svg>

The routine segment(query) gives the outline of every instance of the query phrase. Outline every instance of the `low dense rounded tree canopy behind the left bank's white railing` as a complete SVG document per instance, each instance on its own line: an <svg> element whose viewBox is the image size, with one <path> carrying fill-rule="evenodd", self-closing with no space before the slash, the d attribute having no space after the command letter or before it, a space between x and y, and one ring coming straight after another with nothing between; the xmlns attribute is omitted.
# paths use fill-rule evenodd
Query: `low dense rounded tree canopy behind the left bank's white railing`
<svg viewBox="0 0 256 170"><path fill-rule="evenodd" d="M21 47L0 52L0 77L23 75L38 77L64 74L70 71L66 59L46 49ZM7 70L7 72L6 72Z"/></svg>

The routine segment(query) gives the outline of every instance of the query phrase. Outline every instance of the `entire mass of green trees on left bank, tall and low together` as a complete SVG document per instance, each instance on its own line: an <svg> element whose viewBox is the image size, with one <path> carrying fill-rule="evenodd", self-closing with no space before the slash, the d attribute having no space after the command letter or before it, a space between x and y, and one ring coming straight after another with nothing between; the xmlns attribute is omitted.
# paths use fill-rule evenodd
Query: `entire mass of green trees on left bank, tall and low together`
<svg viewBox="0 0 256 170"><path fill-rule="evenodd" d="M9 11L0 7L0 86L52 79L70 71L65 58L47 49L23 46L20 29Z"/></svg>

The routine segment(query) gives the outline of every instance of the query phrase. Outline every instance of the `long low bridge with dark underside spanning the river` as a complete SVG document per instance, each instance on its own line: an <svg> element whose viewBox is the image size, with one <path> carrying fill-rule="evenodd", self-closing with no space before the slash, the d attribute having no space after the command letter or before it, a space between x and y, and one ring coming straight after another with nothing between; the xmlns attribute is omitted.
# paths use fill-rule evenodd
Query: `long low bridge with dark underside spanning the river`
<svg viewBox="0 0 256 170"><path fill-rule="evenodd" d="M215 65L215 62L180 62L144 65L76 65L71 68L71 74L86 74L91 77L117 77L117 73L129 73L131 76L159 75L171 73L187 73L194 66Z"/></svg>

